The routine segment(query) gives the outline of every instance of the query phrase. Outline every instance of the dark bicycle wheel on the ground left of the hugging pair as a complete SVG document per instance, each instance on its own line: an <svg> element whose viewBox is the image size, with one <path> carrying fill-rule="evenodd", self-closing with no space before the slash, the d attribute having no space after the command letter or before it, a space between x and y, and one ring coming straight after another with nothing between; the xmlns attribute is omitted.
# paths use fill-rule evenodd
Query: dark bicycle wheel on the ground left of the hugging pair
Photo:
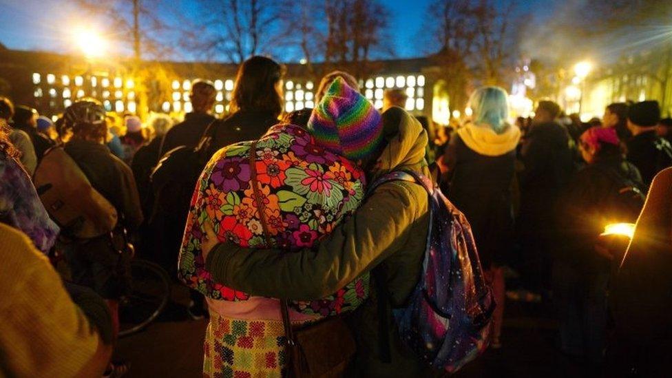
<svg viewBox="0 0 672 378"><path fill-rule="evenodd" d="M132 289L119 303L119 337L143 330L161 314L170 298L168 273L146 260L131 262Z"/></svg>

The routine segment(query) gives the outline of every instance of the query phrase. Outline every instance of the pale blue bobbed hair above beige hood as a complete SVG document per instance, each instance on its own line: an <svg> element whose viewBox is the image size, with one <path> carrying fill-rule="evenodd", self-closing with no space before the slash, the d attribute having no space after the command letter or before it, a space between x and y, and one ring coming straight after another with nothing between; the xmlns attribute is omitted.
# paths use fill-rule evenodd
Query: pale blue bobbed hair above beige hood
<svg viewBox="0 0 672 378"><path fill-rule="evenodd" d="M501 87L480 87L469 99L476 125L488 125L500 134L509 118L508 94Z"/></svg>

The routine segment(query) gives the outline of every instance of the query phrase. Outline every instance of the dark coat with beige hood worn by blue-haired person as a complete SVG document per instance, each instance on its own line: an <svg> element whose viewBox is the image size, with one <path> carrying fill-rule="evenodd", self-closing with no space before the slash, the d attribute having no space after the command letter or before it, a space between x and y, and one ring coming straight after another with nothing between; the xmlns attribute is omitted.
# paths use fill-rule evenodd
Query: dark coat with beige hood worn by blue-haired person
<svg viewBox="0 0 672 378"><path fill-rule="evenodd" d="M512 241L511 187L520 139L516 126L507 125L497 134L487 125L468 125L448 147L448 198L469 220L486 268Z"/></svg>

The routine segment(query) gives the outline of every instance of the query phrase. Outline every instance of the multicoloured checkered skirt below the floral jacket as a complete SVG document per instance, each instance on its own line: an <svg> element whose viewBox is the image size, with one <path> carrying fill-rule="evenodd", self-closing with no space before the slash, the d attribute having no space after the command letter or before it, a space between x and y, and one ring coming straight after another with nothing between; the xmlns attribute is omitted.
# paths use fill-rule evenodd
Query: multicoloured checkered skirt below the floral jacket
<svg viewBox="0 0 672 378"><path fill-rule="evenodd" d="M210 311L203 377L283 377L285 337L280 320L242 320Z"/></svg>

